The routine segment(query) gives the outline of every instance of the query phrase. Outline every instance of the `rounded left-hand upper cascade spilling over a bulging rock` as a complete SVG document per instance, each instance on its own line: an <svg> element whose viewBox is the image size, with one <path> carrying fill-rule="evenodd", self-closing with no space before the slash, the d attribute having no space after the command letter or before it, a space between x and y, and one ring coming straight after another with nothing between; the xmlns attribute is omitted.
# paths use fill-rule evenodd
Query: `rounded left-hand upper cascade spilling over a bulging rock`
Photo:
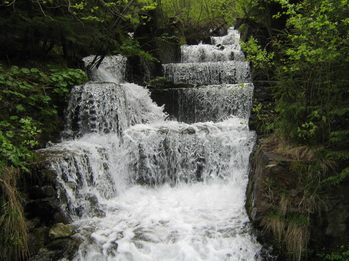
<svg viewBox="0 0 349 261"><path fill-rule="evenodd" d="M85 64L94 56L84 58ZM138 123L163 121L163 108L150 98L142 86L125 83L126 58L107 56L92 69L92 79L84 85L75 86L70 92L66 109L64 134L67 137L98 132L121 133Z"/></svg>

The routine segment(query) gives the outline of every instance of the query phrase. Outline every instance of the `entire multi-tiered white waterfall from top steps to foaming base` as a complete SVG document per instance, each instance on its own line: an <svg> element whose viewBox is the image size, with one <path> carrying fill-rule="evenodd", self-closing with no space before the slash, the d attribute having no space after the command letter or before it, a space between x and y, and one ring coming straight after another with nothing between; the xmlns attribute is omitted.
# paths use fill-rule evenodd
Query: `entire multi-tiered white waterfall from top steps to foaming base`
<svg viewBox="0 0 349 261"><path fill-rule="evenodd" d="M229 39L236 39L235 30L215 41ZM205 50L205 57L219 56L219 49ZM194 84L210 86L181 94L184 123L165 121L145 88L122 84L121 60L107 57L92 72L102 83L72 90L65 133L76 138L45 149L58 174L62 207L84 240L75 260L260 260L244 208L255 143L247 125L253 90L248 64L164 65L170 78L183 68L178 82L184 83L203 67L240 72L236 81L196 77Z"/></svg>

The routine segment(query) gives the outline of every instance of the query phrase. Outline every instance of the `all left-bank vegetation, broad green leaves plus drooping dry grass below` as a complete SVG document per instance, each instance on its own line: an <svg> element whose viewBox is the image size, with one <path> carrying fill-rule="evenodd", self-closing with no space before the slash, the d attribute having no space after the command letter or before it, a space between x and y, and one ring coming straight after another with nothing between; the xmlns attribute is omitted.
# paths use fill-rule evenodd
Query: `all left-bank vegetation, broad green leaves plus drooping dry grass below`
<svg viewBox="0 0 349 261"><path fill-rule="evenodd" d="M32 150L58 139L69 88L87 81L80 69L0 65L0 259L25 260L27 229L18 180L35 160ZM53 136L56 137L53 137Z"/></svg>

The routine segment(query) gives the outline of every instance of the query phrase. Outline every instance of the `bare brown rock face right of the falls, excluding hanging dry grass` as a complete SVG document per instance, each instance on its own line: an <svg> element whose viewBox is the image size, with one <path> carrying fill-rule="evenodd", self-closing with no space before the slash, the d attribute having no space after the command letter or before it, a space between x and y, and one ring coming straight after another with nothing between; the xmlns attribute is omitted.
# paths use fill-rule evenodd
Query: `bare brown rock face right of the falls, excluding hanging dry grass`
<svg viewBox="0 0 349 261"><path fill-rule="evenodd" d="M246 209L253 225L260 230L262 243L272 244L273 236L263 230L263 217L281 207L281 194L288 202L287 212L310 217L310 247L320 249L333 242L345 242L349 235L349 183L325 188L316 201L318 210L306 210L306 183L300 182L296 167L307 162L270 154L260 148L251 155L246 190ZM308 211L308 212L307 212ZM339 240L339 241L338 241ZM341 243L342 244L342 243Z"/></svg>

